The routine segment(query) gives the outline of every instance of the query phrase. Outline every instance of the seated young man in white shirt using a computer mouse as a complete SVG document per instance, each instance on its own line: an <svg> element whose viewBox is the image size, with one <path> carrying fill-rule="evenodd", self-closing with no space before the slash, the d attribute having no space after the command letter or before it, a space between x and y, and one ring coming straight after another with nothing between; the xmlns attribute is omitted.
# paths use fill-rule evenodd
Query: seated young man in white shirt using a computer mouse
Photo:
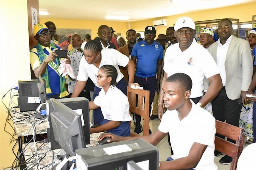
<svg viewBox="0 0 256 170"><path fill-rule="evenodd" d="M120 137L101 134L99 140L110 141L143 138L157 145L168 133L174 154L159 169L216 170L214 164L215 119L189 99L192 81L187 74L175 73L163 85L164 103L168 111L163 115L158 129L150 136ZM185 140L180 140L181 138Z"/></svg>

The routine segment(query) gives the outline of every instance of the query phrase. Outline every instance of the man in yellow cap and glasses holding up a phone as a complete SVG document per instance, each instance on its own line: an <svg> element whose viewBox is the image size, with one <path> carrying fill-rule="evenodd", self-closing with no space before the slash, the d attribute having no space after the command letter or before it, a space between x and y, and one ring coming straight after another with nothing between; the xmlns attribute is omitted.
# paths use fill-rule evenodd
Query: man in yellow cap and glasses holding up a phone
<svg viewBox="0 0 256 170"><path fill-rule="evenodd" d="M46 81L46 98L63 98L69 95L66 91L65 77L59 74L60 58L54 50L60 50L59 46L55 46L51 41L50 30L45 24L37 24L34 26L34 38L38 40L37 46L30 51L30 64L38 78L39 75ZM70 64L67 57L66 64Z"/></svg>

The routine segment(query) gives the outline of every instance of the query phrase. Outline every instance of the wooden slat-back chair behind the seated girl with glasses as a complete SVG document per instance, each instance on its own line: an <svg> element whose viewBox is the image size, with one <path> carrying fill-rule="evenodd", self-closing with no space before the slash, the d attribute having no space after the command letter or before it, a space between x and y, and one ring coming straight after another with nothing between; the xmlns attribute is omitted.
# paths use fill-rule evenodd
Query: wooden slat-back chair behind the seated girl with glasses
<svg viewBox="0 0 256 170"><path fill-rule="evenodd" d="M136 95L138 95L138 104L136 107ZM136 113L137 115L142 116L143 121L143 136L149 135L149 96L150 92L148 90L141 89L132 89L127 86L127 97L130 104L130 112ZM143 97L144 108L143 108ZM131 126L131 122L130 122ZM137 133L131 131L131 136L138 136Z"/></svg>

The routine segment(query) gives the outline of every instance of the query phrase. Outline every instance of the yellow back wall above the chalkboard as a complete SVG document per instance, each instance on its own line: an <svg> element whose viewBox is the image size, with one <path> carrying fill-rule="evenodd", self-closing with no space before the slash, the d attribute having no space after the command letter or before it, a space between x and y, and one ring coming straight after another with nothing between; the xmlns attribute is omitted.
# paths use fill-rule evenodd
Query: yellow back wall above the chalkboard
<svg viewBox="0 0 256 170"><path fill-rule="evenodd" d="M40 22L52 21L56 28L73 28L73 29L91 29L91 38L94 39L97 35L98 28L101 25L112 27L115 33L121 33L125 36L128 30L128 22L118 21L88 21L88 20L64 20L64 19L48 19L40 17ZM84 36L84 35L82 35Z"/></svg>

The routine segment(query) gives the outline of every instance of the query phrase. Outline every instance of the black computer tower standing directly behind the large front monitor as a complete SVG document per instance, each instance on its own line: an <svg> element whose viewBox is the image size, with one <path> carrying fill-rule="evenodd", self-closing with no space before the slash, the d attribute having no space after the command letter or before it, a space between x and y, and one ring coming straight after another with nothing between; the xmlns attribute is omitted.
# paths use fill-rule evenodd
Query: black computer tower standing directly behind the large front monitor
<svg viewBox="0 0 256 170"><path fill-rule="evenodd" d="M82 115L82 125L84 130L85 136L85 143L90 144L90 123L89 123L89 100L85 97L76 97L76 98L64 98L64 99L57 99L59 102L65 104L76 113ZM49 116L49 103L50 100L46 100L46 109L47 109L47 138L48 142L51 142L51 149L59 149L59 144L55 141L53 129L51 126L51 118Z"/></svg>

